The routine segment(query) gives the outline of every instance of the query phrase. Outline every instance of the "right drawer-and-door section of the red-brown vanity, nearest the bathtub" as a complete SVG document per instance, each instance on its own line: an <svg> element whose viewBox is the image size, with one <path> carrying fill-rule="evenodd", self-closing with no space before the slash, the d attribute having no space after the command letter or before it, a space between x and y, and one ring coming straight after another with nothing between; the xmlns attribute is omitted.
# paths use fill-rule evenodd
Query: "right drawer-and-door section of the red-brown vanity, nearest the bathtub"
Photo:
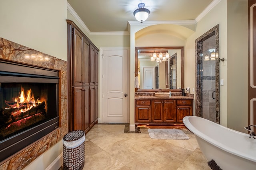
<svg viewBox="0 0 256 170"><path fill-rule="evenodd" d="M193 100L177 100L177 122L183 123L182 119L185 116L192 115Z"/></svg>

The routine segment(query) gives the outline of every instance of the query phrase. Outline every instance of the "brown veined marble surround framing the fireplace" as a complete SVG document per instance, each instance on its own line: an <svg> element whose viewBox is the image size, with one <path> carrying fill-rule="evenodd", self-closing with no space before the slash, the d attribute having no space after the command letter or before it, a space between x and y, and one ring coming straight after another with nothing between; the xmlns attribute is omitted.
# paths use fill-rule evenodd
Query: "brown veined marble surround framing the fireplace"
<svg viewBox="0 0 256 170"><path fill-rule="evenodd" d="M20 150L7 160L0 162L1 170L21 170L35 160L38 156L62 140L68 132L67 122L67 62L61 59L46 55L34 49L8 41L0 37L0 58L20 63L32 64L60 70L61 72L61 94L59 94L60 127L48 135L35 141L26 148Z"/></svg>

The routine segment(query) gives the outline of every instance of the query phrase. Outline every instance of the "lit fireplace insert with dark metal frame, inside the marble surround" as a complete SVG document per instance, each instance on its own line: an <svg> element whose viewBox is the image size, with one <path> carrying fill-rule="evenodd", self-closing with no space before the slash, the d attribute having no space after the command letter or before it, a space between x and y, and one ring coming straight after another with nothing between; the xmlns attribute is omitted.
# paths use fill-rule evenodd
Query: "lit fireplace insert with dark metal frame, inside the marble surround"
<svg viewBox="0 0 256 170"><path fill-rule="evenodd" d="M58 70L0 59L0 162L59 127Z"/></svg>

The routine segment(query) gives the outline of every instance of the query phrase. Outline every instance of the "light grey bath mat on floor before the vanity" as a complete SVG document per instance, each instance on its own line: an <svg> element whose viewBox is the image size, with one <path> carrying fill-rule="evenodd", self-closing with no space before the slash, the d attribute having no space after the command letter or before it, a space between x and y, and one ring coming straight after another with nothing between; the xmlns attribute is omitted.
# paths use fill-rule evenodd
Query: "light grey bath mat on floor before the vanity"
<svg viewBox="0 0 256 170"><path fill-rule="evenodd" d="M148 129L148 135L152 139L189 139L180 129Z"/></svg>

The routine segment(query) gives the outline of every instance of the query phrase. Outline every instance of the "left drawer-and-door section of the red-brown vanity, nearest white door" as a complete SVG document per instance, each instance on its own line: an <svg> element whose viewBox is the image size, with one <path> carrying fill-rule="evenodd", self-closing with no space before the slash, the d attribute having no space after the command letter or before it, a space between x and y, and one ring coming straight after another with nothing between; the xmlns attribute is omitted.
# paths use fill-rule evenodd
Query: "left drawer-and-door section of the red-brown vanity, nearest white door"
<svg viewBox="0 0 256 170"><path fill-rule="evenodd" d="M151 100L135 100L135 123L151 122Z"/></svg>

